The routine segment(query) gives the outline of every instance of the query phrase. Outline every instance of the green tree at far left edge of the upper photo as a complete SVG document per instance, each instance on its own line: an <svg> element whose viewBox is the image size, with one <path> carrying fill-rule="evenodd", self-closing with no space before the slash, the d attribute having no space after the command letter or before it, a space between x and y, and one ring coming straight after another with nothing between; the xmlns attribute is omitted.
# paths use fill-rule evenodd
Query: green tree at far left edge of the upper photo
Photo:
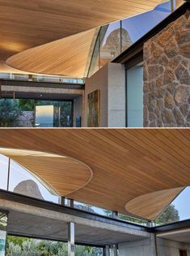
<svg viewBox="0 0 190 256"><path fill-rule="evenodd" d="M0 126L16 127L19 122L19 116L22 114L17 102L11 99L0 100Z"/></svg>

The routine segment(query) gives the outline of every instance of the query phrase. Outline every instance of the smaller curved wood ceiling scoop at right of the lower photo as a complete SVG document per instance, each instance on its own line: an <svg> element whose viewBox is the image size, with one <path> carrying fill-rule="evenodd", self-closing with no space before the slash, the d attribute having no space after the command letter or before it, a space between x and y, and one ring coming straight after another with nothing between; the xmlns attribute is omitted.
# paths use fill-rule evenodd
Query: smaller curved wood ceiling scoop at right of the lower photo
<svg viewBox="0 0 190 256"><path fill-rule="evenodd" d="M184 188L165 189L153 193L146 193L136 197L125 205L129 215L141 216L144 219L156 219ZM143 207L142 207L143 206ZM149 212L147 212L149 209Z"/></svg>

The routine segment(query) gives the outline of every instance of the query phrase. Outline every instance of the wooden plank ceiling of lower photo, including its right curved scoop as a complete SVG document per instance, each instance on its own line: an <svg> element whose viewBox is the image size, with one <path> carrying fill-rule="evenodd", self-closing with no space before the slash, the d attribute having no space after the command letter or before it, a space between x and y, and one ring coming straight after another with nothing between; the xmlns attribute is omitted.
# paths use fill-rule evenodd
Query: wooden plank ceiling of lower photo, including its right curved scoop
<svg viewBox="0 0 190 256"><path fill-rule="evenodd" d="M146 219L155 218L190 184L189 140L189 129L2 128L0 132L1 147L67 155L91 167L91 182L68 197L121 213L127 207ZM64 176L58 181L64 182ZM149 205L152 193L162 190ZM135 198L141 199L141 212L132 201Z"/></svg>

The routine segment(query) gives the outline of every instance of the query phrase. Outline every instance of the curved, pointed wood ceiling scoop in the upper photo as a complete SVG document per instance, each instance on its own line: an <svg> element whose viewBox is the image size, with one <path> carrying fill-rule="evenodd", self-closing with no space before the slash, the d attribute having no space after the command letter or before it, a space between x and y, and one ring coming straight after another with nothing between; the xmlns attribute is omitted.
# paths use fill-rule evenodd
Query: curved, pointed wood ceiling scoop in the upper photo
<svg viewBox="0 0 190 256"><path fill-rule="evenodd" d="M6 63L32 73L84 77L96 29L13 55Z"/></svg>

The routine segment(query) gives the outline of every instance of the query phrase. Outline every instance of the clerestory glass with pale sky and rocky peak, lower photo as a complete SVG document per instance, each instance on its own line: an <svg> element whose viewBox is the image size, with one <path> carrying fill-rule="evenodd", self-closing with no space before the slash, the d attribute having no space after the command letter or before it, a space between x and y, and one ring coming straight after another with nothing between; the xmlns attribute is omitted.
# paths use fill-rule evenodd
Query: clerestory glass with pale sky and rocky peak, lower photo
<svg viewBox="0 0 190 256"><path fill-rule="evenodd" d="M9 190L21 193L40 200L58 203L58 196L49 191L44 184L32 175L29 171L11 160Z"/></svg>

